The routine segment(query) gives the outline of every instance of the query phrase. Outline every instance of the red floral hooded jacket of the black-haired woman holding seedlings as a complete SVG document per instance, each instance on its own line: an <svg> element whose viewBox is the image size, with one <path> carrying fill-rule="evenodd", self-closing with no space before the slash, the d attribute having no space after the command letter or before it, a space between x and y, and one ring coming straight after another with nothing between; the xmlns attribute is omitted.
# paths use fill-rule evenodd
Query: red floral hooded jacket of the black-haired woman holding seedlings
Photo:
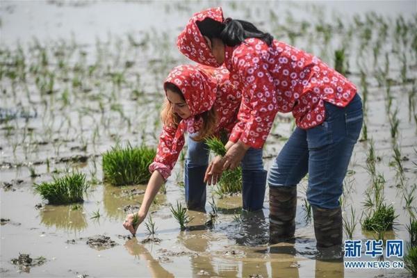
<svg viewBox="0 0 417 278"><path fill-rule="evenodd" d="M179 50L191 60L218 67L196 22L210 17L224 22L222 8L191 17L178 36ZM292 112L297 126L309 129L325 121L324 101L345 107L357 88L319 58L284 42L247 38L236 47L225 46L224 65L243 95L238 123L229 140L261 148L277 112Z"/></svg>

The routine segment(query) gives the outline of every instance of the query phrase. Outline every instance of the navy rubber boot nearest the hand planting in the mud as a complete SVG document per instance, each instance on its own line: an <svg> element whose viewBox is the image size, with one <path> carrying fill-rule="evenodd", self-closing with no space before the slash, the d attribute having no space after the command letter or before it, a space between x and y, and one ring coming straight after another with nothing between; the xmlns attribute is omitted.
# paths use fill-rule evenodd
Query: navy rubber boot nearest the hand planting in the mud
<svg viewBox="0 0 417 278"><path fill-rule="evenodd" d="M187 208L193 211L205 211L206 183L204 174L207 166L185 167L185 188Z"/></svg>

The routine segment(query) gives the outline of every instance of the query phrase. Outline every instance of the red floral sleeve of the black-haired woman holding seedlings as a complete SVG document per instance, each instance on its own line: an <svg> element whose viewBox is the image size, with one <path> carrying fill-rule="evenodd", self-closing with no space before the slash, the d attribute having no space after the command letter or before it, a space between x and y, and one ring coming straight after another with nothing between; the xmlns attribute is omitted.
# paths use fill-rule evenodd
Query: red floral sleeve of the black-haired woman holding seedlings
<svg viewBox="0 0 417 278"><path fill-rule="evenodd" d="M243 84L243 99L238 124L234 126L229 139L233 142L241 140L259 149L263 147L278 112L274 79L265 58L255 51L242 51L233 59L234 69Z"/></svg>

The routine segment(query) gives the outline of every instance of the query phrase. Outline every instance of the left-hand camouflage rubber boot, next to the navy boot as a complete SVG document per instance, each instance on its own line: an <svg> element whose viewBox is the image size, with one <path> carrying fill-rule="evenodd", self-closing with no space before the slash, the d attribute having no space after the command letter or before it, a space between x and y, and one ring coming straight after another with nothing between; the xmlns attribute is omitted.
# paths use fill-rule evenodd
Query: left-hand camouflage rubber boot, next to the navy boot
<svg viewBox="0 0 417 278"><path fill-rule="evenodd" d="M297 186L270 186L270 243L291 241L295 233Z"/></svg>

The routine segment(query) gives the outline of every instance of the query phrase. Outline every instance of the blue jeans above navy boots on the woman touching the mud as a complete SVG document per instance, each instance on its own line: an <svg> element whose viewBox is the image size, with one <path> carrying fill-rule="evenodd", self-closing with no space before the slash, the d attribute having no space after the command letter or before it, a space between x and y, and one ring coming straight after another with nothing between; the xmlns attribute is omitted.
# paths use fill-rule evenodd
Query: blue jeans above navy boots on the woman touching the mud
<svg viewBox="0 0 417 278"><path fill-rule="evenodd" d="M193 140L193 136L195 134L189 134L187 139L186 165L188 167L208 165L208 155L210 152L206 143L204 141L197 142ZM263 170L262 149L248 149L240 166L242 166L243 171Z"/></svg>

